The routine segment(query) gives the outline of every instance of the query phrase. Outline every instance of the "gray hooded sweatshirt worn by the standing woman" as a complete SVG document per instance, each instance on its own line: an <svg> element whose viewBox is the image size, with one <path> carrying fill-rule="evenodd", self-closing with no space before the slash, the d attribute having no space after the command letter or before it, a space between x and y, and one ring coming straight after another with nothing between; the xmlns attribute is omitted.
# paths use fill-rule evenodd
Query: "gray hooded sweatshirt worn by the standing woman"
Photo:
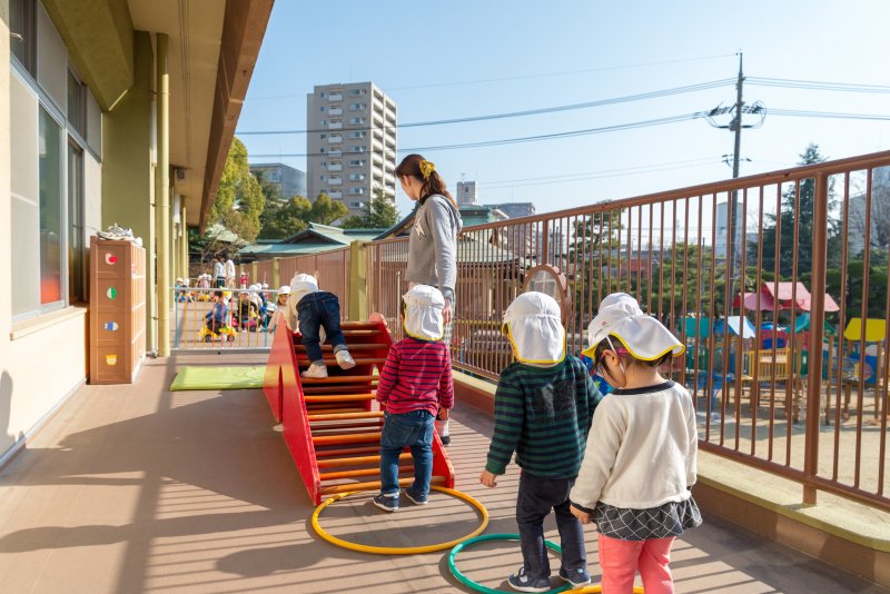
<svg viewBox="0 0 890 594"><path fill-rule="evenodd" d="M405 279L437 287L454 301L457 281L457 234L464 227L461 212L438 194L417 208L408 240L408 269Z"/></svg>

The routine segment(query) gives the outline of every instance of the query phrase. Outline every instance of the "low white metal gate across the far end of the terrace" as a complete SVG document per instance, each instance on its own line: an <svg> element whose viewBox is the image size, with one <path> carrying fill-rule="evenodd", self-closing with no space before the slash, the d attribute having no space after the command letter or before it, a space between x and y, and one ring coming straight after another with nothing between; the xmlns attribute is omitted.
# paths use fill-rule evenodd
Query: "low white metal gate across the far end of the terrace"
<svg viewBox="0 0 890 594"><path fill-rule="evenodd" d="M175 287L172 295L174 350L270 348L277 310L284 311L277 290ZM225 307L221 323L212 315L217 303Z"/></svg>

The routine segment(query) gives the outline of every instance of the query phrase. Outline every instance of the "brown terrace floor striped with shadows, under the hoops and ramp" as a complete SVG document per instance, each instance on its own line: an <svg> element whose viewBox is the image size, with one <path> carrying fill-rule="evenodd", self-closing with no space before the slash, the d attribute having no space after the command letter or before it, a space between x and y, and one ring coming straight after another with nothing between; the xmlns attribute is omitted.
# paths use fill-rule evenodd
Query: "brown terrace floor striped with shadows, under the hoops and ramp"
<svg viewBox="0 0 890 594"><path fill-rule="evenodd" d="M167 390L181 365L257 364L263 355L200 354L149 360L132 386L87 386L0 471L2 592L466 592L447 552L380 556L338 548L309 525L309 502L259 390ZM477 482L491 420L458 405L448 452L457 488L512 533L518 472L495 489ZM355 542L443 542L476 513L435 494L388 515L367 495L330 506L323 524ZM558 542L555 526L547 537ZM587 531L596 574L596 534ZM469 577L504 588L516 543L467 548ZM554 568L558 562L553 563ZM683 593L886 592L850 574L705 516L676 543ZM555 585L554 581L554 585Z"/></svg>

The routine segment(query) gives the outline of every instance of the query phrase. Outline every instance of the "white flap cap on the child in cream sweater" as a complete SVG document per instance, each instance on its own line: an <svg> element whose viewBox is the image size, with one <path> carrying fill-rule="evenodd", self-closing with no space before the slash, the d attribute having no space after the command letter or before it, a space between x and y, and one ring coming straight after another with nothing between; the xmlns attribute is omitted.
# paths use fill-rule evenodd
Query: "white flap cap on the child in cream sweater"
<svg viewBox="0 0 890 594"><path fill-rule="evenodd" d="M647 316L636 299L625 293L613 293L600 304L600 311L587 327L590 346L583 354L593 358L596 346L609 335L616 336L640 360L655 360L671 353L674 357L685 350L661 321Z"/></svg>

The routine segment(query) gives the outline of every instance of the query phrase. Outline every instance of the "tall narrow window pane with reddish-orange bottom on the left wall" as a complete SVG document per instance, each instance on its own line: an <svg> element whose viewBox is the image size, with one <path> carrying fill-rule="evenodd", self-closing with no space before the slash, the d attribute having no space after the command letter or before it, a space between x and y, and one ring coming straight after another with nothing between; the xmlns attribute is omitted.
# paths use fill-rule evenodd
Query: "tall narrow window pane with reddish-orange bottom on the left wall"
<svg viewBox="0 0 890 594"><path fill-rule="evenodd" d="M40 180L40 305L62 300L61 127L42 107L38 136Z"/></svg>

